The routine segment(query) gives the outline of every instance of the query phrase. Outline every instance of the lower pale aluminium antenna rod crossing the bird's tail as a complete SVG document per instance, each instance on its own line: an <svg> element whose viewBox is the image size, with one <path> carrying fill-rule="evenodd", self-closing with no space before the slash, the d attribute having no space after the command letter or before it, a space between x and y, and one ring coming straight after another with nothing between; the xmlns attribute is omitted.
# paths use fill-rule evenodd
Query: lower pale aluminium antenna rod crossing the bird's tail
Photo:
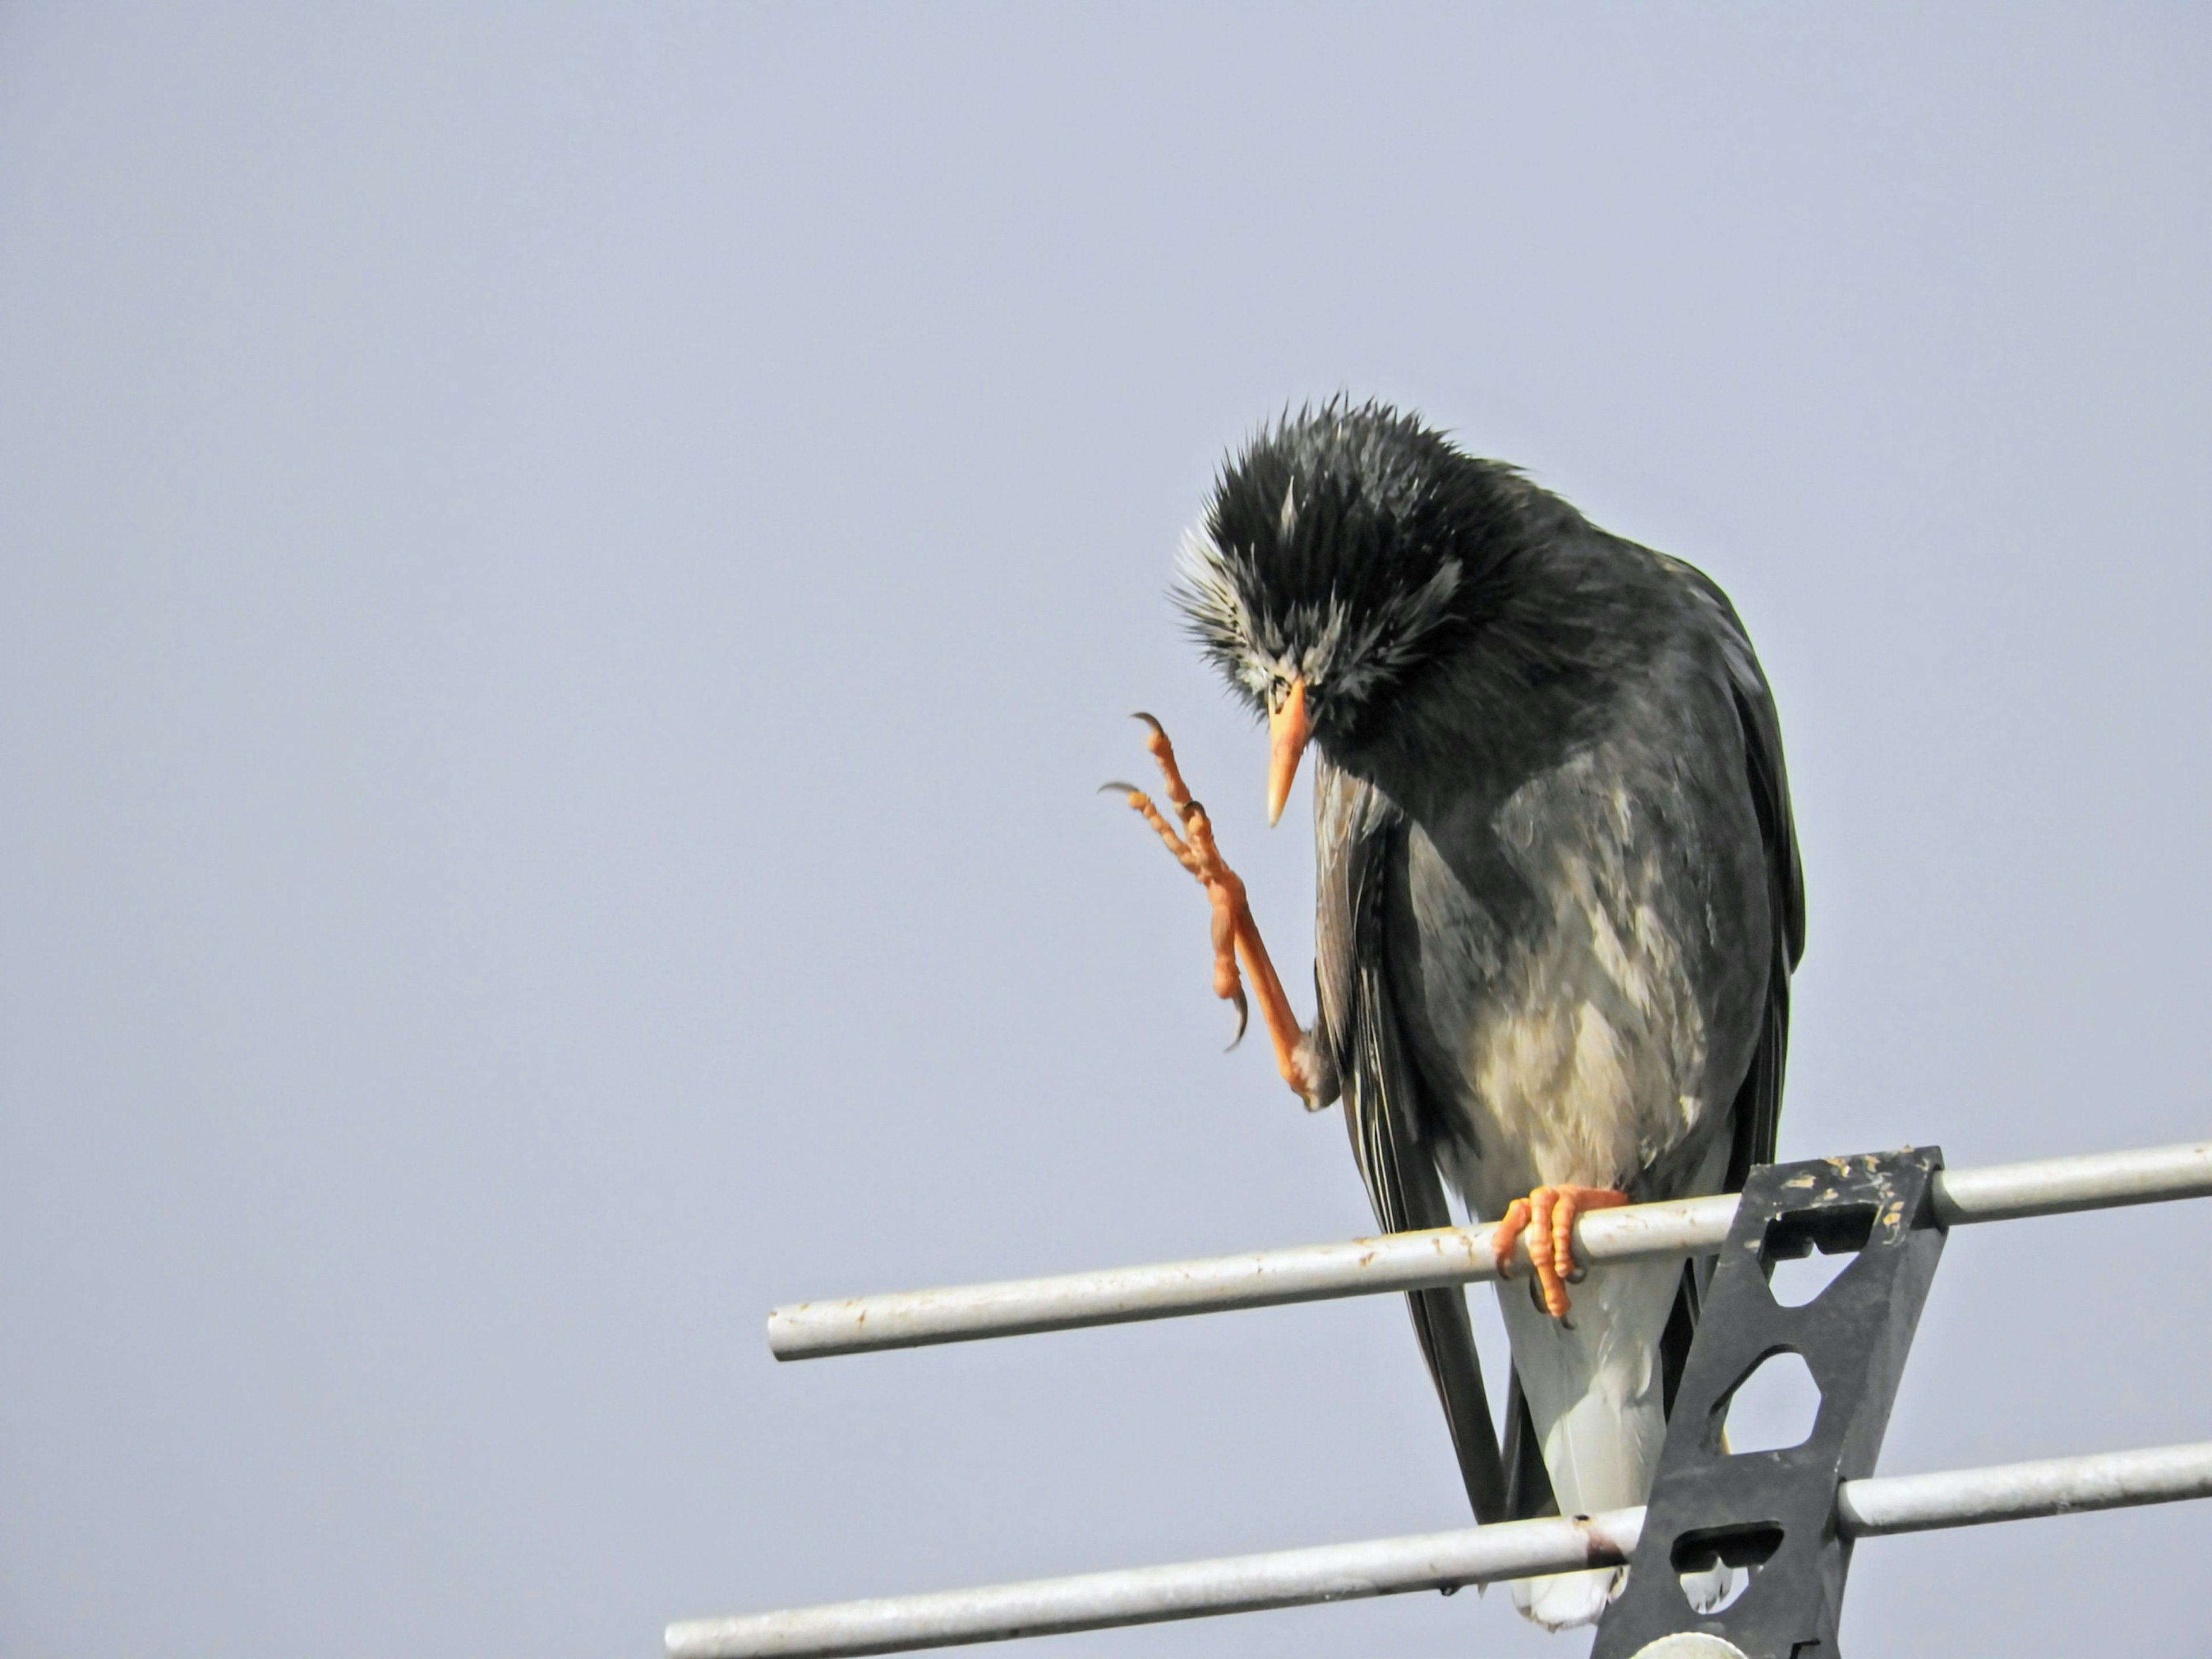
<svg viewBox="0 0 2212 1659"><path fill-rule="evenodd" d="M1849 1537L1880 1537L2183 1498L2212 1498L2212 1440L1940 1475L1851 1480L1836 1491L1836 1524ZM1577 1566L1613 1566L1635 1553L1641 1531L1641 1509L1617 1509L1586 1520L1464 1526L1367 1544L836 1601L737 1619L690 1619L668 1626L668 1659L838 1659L1447 1590Z"/></svg>

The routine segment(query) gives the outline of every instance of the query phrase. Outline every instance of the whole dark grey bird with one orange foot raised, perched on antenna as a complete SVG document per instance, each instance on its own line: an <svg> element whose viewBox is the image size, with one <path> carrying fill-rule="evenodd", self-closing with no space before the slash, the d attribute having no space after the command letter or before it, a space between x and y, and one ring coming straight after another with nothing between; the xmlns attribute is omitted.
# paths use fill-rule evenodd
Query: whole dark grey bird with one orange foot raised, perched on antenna
<svg viewBox="0 0 2212 1659"><path fill-rule="evenodd" d="M1110 785L1206 883L1217 993L1241 1033L1241 953L1285 1082L1314 1110L1343 1097L1385 1230L1451 1225L1449 1181L1502 1261L1528 1234L1535 1283L1498 1287L1504 1451L1460 1290L1409 1298L1478 1517L1644 1502L1699 1274L1617 1263L1571 1303L1571 1228L1774 1157L1805 894L1743 624L1681 560L1374 403L1261 429L1186 538L1177 599L1267 719L1270 823L1316 757L1303 1031L1150 717L1179 823ZM1515 1599L1586 1624L1621 1573Z"/></svg>

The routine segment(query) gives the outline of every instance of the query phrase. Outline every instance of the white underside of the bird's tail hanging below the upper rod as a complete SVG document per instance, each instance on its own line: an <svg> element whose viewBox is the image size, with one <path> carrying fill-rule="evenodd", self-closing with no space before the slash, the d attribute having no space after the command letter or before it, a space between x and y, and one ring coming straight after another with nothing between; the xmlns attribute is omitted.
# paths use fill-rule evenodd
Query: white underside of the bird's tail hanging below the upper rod
<svg viewBox="0 0 2212 1659"><path fill-rule="evenodd" d="M1571 1318L1557 1321L1531 1301L1526 1281L1498 1285L1513 1371L1562 1515L1628 1509L1650 1495L1666 1442L1659 1336L1679 1290L1674 1261L1593 1267L1575 1285ZM1515 1579L1513 1604L1537 1624L1566 1630L1595 1624L1626 1582L1624 1566ZM1692 1599L1701 1593L1719 1599L1725 1584L1683 1588Z"/></svg>

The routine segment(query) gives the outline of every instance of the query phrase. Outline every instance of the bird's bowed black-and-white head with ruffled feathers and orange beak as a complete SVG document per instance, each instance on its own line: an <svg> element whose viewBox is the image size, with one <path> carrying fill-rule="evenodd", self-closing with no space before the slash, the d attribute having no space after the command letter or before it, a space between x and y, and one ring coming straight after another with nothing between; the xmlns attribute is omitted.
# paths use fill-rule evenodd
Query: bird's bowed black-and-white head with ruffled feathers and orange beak
<svg viewBox="0 0 2212 1659"><path fill-rule="evenodd" d="M1307 741L1389 719L1480 611L1511 469L1378 403L1285 414L1214 482L1183 538L1190 633L1267 717L1267 823Z"/></svg>

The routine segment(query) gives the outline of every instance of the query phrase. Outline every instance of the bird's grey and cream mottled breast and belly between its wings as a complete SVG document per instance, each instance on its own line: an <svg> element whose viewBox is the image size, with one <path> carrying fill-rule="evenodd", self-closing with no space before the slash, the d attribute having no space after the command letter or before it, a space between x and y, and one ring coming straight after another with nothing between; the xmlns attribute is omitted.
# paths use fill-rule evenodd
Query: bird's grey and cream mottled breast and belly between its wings
<svg viewBox="0 0 2212 1659"><path fill-rule="evenodd" d="M1537 1181L1661 1197L1710 1188L1714 1146L1725 1164L1772 956L1765 854L1725 681L1652 679L1555 765L1389 814L1389 1000L1482 1214Z"/></svg>

